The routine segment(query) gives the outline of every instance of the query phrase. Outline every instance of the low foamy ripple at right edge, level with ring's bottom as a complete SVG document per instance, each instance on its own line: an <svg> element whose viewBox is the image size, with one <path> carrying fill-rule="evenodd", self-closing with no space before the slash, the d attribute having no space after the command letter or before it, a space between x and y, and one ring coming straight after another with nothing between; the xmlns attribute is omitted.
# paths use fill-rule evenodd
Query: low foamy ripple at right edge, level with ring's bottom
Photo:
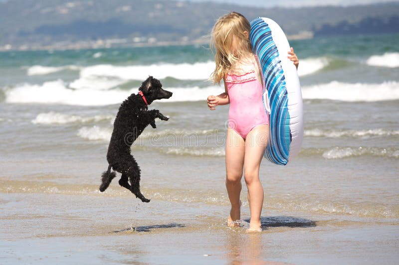
<svg viewBox="0 0 399 265"><path fill-rule="evenodd" d="M358 157L363 155L399 158L399 149L376 148L376 147L335 147L323 153L325 159L340 159Z"/></svg>

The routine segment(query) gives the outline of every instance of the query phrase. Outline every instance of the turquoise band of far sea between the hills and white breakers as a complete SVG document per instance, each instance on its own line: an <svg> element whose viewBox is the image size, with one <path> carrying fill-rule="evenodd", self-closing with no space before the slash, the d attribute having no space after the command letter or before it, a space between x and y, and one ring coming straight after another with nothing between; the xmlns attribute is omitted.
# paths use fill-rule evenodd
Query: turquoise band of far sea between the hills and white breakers
<svg viewBox="0 0 399 265"><path fill-rule="evenodd" d="M316 38L308 40L291 40L290 44L301 55L319 57L325 55L368 58L375 54L398 52L396 45L399 34L344 36L334 38ZM102 53L93 58L93 54ZM163 46L138 48L111 48L95 50L61 50L61 51L11 51L1 52L1 67L24 65L63 66L102 64L152 64L159 62L195 63L212 59L209 47L203 45Z"/></svg>

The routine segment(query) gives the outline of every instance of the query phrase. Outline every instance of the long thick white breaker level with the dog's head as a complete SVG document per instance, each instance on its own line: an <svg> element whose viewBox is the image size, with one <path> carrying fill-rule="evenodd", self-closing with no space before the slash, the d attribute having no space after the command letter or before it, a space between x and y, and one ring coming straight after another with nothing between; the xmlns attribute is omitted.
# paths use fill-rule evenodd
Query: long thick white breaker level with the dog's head
<svg viewBox="0 0 399 265"><path fill-rule="evenodd" d="M218 94L224 89L218 86L206 88L168 88L173 92L162 102L205 100L210 94ZM45 82L42 85L23 84L5 90L5 101L13 103L61 103L70 105L108 105L119 104L138 88L130 90L95 88L68 88L61 80ZM304 99L330 99L341 101L382 101L399 99L399 83L382 84L331 82L302 88Z"/></svg>

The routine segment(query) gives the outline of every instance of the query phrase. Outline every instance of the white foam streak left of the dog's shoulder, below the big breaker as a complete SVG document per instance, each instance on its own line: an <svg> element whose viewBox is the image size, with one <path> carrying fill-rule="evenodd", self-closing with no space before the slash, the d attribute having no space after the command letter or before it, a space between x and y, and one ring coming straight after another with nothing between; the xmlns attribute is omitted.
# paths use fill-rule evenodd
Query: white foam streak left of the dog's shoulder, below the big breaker
<svg viewBox="0 0 399 265"><path fill-rule="evenodd" d="M98 122L101 120L112 120L112 115L95 115L92 117L82 117L79 115L70 115L58 112L40 113L31 122L34 124L66 124L66 123L86 123Z"/></svg>

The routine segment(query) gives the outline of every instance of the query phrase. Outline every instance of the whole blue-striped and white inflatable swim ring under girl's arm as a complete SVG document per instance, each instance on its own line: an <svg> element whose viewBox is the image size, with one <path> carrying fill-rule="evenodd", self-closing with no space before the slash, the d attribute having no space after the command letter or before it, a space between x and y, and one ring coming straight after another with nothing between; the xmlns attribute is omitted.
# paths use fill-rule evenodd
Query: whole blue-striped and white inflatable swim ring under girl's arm
<svg viewBox="0 0 399 265"><path fill-rule="evenodd" d="M301 86L294 64L287 58L287 37L270 18L251 22L250 41L258 56L263 81L263 104L269 114L265 157L286 165L300 151L303 139Z"/></svg>

